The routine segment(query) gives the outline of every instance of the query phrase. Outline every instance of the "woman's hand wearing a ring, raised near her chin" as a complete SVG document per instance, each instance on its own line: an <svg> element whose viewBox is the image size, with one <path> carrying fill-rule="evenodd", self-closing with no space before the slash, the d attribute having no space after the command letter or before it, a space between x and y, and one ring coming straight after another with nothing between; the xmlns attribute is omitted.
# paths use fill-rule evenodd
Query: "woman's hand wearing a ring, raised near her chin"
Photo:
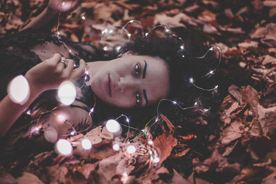
<svg viewBox="0 0 276 184"><path fill-rule="evenodd" d="M67 66L61 62L61 59L67 61ZM75 62L71 59L61 57L61 54L55 54L50 59L35 65L28 70L25 77L30 84L30 89L34 94L40 94L45 90L57 89L59 84L65 80L75 83L86 70L86 63L81 59L79 68L74 69Z"/></svg>

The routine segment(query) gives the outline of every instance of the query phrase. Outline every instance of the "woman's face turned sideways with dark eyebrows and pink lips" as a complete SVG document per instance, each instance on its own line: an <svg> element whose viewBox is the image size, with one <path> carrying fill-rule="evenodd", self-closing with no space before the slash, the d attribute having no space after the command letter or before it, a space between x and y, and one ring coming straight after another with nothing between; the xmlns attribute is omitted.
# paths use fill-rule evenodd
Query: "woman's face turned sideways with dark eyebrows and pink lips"
<svg viewBox="0 0 276 184"><path fill-rule="evenodd" d="M101 61L92 72L91 88L111 105L144 107L168 96L168 67L158 57L124 54L119 59Z"/></svg>

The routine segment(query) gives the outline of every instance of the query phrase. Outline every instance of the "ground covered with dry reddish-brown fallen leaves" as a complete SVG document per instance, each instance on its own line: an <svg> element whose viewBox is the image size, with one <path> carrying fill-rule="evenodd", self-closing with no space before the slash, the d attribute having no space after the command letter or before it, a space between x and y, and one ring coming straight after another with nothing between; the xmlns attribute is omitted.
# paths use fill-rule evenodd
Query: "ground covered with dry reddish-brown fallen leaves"
<svg viewBox="0 0 276 184"><path fill-rule="evenodd" d="M0 3L0 37L19 31L46 7L43 0ZM231 85L221 103L219 135L207 138L206 149L213 154L204 159L192 156L186 142L197 136L177 134L173 122L163 116L169 130L153 145L137 136L135 155L125 155L124 141L97 127L85 135L95 147L92 152L77 146L77 157L44 152L33 156L23 176L14 176L17 179L1 169L0 183L276 183L276 1L84 1L72 14L61 15L59 32L72 41L108 49L121 39L101 41L101 32L132 19L139 20L144 30L160 23L200 32L209 45L221 48L222 62L237 63L250 74L250 85ZM81 139L83 134L70 141L78 145ZM119 152L112 150L113 141L121 141ZM152 165L149 158L155 152L160 161Z"/></svg>

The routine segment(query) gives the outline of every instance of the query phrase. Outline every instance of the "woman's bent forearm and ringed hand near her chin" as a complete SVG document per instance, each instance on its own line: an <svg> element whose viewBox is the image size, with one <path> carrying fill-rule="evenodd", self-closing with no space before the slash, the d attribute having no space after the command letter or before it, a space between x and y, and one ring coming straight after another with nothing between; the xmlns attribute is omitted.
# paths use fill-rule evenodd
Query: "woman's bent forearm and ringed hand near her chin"
<svg viewBox="0 0 276 184"><path fill-rule="evenodd" d="M79 68L76 69L74 69L74 61L67 59L66 68L60 61L61 55L55 54L28 70L25 77L30 85L30 97L26 103L23 105L14 103L8 95L0 101L0 136L6 135L13 123L41 92L57 89L65 80L75 82L86 70L86 63L82 59L79 62Z"/></svg>

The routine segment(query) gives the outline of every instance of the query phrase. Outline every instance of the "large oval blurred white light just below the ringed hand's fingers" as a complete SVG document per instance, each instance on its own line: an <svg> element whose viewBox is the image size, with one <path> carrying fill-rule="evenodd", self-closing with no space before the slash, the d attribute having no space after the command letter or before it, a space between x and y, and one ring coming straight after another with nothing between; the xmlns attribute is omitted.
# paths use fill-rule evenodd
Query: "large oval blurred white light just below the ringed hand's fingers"
<svg viewBox="0 0 276 184"><path fill-rule="evenodd" d="M75 85L71 81L63 81L59 85L59 90L57 95L59 96L59 100L64 105L70 105L75 101L76 98L76 88Z"/></svg>

